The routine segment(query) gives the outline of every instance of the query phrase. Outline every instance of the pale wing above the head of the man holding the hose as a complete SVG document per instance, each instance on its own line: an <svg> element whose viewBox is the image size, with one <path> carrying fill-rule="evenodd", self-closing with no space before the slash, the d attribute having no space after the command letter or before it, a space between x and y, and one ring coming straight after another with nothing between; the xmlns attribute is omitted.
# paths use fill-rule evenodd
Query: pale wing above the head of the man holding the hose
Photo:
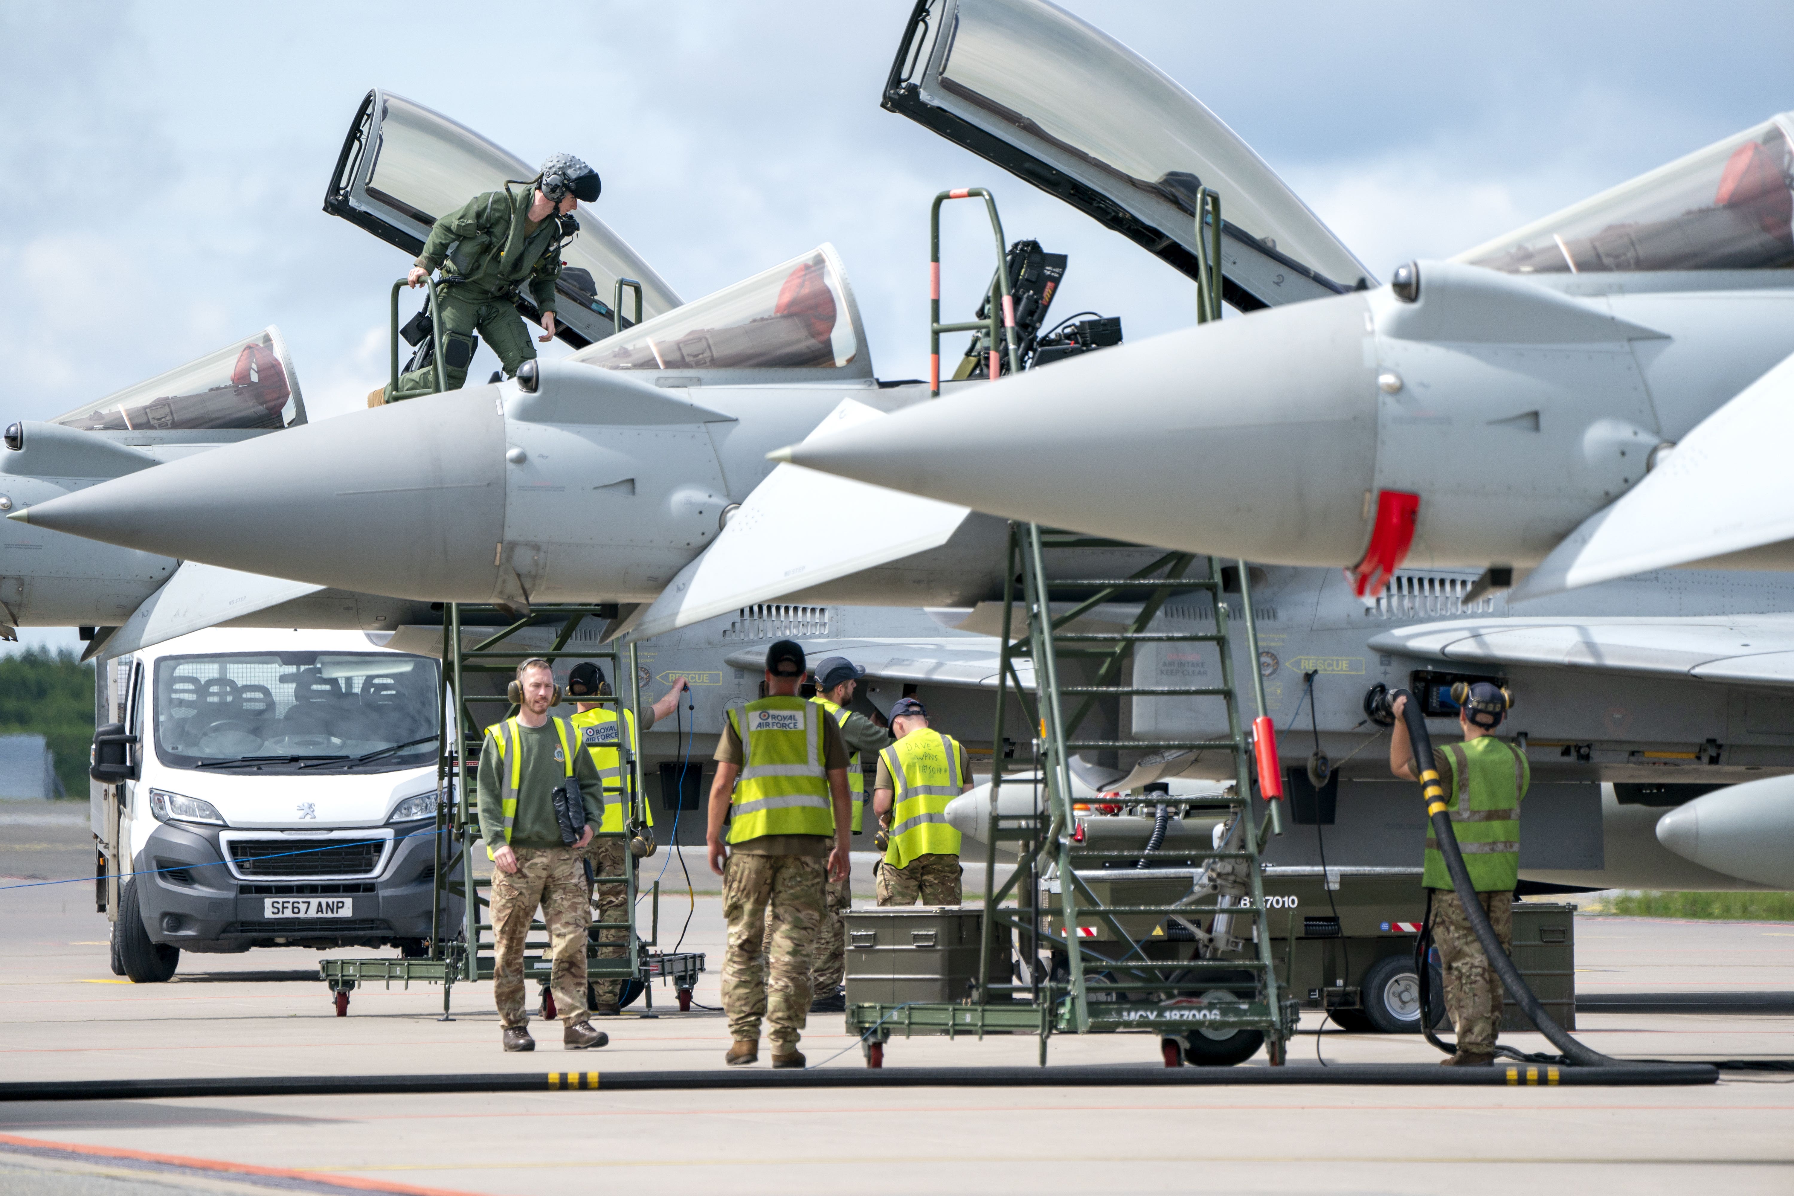
<svg viewBox="0 0 1794 1196"><path fill-rule="evenodd" d="M1794 615L1428 622L1369 640L1380 653L1742 685L1794 685Z"/></svg>

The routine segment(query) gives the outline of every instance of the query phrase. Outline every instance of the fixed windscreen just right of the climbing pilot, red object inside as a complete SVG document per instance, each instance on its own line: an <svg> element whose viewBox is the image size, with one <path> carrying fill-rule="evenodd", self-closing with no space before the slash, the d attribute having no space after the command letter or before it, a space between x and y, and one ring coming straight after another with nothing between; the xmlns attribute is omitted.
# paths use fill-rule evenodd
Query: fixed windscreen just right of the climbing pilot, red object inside
<svg viewBox="0 0 1794 1196"><path fill-rule="evenodd" d="M872 377L859 308L834 246L692 299L569 360L605 369L798 371L789 380Z"/></svg>

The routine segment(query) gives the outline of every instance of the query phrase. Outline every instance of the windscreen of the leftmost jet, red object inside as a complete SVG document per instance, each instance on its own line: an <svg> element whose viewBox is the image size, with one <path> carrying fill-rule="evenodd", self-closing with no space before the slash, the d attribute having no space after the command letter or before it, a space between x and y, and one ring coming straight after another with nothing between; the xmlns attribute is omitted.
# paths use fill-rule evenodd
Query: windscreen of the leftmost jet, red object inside
<svg viewBox="0 0 1794 1196"><path fill-rule="evenodd" d="M206 432L305 423L287 342L269 325L185 366L56 416L90 432Z"/></svg>

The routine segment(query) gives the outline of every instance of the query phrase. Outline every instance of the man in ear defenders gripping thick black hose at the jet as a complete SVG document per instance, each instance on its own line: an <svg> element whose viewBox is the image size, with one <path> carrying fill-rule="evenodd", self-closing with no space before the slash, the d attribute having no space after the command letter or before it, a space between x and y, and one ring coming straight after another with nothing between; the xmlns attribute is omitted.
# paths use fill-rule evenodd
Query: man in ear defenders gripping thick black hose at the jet
<svg viewBox="0 0 1794 1196"><path fill-rule="evenodd" d="M1462 744L1433 748L1433 771L1451 803L1451 834L1464 854L1464 868L1476 898L1489 914L1489 925L1502 950L1514 950L1514 886L1520 880L1520 802L1527 796L1532 769L1527 755L1494 737L1507 717L1507 690L1487 681L1469 685L1459 699ZM1401 721L1406 698L1396 699L1396 728L1389 742L1389 767L1403 780L1419 780L1408 726ZM1502 1029L1502 981L1489 968L1489 958L1464 914L1464 904L1451 888L1446 861L1439 854L1432 827L1426 830L1426 870L1421 884L1428 889L1428 920L1439 947L1439 968L1446 981L1446 1013L1457 1029L1457 1054L1446 1067L1487 1067L1494 1063L1494 1038Z"/></svg>

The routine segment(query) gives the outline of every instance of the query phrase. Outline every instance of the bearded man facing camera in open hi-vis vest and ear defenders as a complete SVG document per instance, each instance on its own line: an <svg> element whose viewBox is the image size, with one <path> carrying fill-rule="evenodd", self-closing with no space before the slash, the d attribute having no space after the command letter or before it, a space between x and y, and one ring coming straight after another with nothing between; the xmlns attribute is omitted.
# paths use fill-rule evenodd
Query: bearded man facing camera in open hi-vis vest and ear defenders
<svg viewBox="0 0 1794 1196"><path fill-rule="evenodd" d="M579 733L551 719L560 694L554 669L540 656L517 665L522 690L517 717L486 728L479 751L479 832L497 871L492 875L492 995L504 1022L506 1051L535 1051L524 1015L524 936L542 907L554 959L549 984L569 1051L601 1047L610 1036L592 1029L585 1010L585 932L592 922L579 848L605 818L597 766L579 751ZM572 846L562 843L554 789L578 778L585 828ZM493 846L497 845L497 846Z"/></svg>

